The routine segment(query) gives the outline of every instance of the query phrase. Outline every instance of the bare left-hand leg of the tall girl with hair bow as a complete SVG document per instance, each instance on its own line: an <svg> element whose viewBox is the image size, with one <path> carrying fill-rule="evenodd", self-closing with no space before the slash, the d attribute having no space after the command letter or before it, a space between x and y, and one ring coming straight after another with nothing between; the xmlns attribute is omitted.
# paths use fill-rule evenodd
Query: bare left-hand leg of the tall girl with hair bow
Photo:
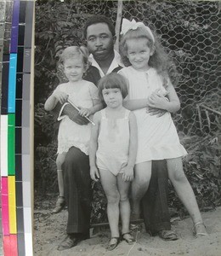
<svg viewBox="0 0 221 256"><path fill-rule="evenodd" d="M147 161L137 164L134 167L135 175L132 182L132 220L140 218L140 201L149 187L151 166L152 162Z"/></svg>

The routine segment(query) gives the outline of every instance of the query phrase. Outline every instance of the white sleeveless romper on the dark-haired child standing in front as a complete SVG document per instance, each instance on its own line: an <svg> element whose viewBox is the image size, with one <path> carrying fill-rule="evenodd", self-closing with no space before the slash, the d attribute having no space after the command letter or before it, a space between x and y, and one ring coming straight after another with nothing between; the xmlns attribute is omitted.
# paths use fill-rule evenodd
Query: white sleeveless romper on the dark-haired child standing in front
<svg viewBox="0 0 221 256"><path fill-rule="evenodd" d="M121 119L108 119L106 108L100 110L100 130L98 137L98 150L96 163L99 169L108 170L117 175L127 166L129 155L129 113L125 109Z"/></svg>

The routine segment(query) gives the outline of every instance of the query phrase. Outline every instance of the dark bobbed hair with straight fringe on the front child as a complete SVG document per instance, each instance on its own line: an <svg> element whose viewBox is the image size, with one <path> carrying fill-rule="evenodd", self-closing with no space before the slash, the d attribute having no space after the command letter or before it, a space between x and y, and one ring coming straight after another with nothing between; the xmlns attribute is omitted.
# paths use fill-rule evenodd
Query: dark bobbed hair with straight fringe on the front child
<svg viewBox="0 0 221 256"><path fill-rule="evenodd" d="M99 80L98 84L99 88L99 97L104 101L102 90L104 89L111 89L111 88L118 88L122 92L122 98L124 99L127 94L127 81L126 79L119 73L109 73L105 75L102 79Z"/></svg>

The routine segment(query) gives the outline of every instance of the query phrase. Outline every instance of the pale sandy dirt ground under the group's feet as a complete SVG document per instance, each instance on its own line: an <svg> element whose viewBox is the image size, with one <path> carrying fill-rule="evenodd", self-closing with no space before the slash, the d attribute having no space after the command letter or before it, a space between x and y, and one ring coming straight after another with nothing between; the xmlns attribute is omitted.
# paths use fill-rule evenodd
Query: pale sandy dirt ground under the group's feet
<svg viewBox="0 0 221 256"><path fill-rule="evenodd" d="M43 202L44 207L35 208L34 213L34 253L44 255L74 255L74 256L220 256L221 255L221 207L212 212L202 212L202 217L207 226L209 236L195 238L192 234L190 218L180 220L172 219L172 228L178 233L177 241L163 241L158 236L151 237L144 230L144 224L139 224L139 229L133 230L137 241L128 245L122 241L115 250L108 252L105 247L110 239L109 228L96 228L91 230L90 239L81 241L77 247L69 250L58 251L59 242L65 238L65 225L67 211L51 214L53 207L48 201Z"/></svg>

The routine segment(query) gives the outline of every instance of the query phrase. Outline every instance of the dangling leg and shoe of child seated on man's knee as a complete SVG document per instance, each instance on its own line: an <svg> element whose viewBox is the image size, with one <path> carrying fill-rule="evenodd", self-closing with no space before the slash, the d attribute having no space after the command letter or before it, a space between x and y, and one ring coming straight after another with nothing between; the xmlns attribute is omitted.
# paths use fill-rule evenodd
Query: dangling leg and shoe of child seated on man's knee
<svg viewBox="0 0 221 256"><path fill-rule="evenodd" d="M63 179L63 171L62 171L62 165L65 162L65 155L66 155L66 152L58 154L56 159L58 184L59 184L59 197L56 202L56 206L52 211L53 213L59 212L65 206L64 179Z"/></svg>

